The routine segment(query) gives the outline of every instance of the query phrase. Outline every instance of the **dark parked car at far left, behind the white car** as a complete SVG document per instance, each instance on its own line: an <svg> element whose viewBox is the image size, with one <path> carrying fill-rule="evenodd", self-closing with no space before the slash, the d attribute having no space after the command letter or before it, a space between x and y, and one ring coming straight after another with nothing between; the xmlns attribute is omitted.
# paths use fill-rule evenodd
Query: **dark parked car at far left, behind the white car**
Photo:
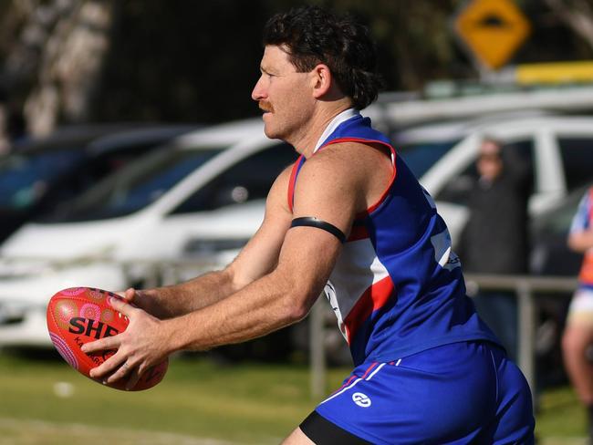
<svg viewBox="0 0 593 445"><path fill-rule="evenodd" d="M18 144L13 153L0 158L0 243L26 221L51 212L130 160L197 128L77 126Z"/></svg>

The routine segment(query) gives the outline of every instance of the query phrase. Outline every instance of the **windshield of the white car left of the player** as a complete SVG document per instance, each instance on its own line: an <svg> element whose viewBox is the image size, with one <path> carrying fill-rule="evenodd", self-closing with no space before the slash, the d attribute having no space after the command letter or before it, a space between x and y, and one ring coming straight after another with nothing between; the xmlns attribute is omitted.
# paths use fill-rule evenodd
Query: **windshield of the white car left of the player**
<svg viewBox="0 0 593 445"><path fill-rule="evenodd" d="M103 220L140 211L220 152L221 149L207 149L155 153L109 176L42 221Z"/></svg>

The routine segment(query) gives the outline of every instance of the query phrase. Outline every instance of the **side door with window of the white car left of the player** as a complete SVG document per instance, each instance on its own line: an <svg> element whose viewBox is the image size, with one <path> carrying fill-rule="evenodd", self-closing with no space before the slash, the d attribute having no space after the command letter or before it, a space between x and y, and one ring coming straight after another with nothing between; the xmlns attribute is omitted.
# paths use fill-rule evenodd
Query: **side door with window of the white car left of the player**
<svg viewBox="0 0 593 445"><path fill-rule="evenodd" d="M167 255L236 253L263 221L265 197L277 175L296 157L285 143L268 144L193 191L155 228L168 240Z"/></svg>

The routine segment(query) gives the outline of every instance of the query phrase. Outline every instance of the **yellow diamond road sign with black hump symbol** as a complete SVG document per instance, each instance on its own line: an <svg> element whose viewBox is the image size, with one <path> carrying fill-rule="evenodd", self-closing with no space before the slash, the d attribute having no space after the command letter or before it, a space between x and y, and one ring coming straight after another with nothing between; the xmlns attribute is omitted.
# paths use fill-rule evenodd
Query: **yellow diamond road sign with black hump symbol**
<svg viewBox="0 0 593 445"><path fill-rule="evenodd" d="M484 66L503 67L529 35L529 22L512 0L472 0L455 18L463 42Z"/></svg>

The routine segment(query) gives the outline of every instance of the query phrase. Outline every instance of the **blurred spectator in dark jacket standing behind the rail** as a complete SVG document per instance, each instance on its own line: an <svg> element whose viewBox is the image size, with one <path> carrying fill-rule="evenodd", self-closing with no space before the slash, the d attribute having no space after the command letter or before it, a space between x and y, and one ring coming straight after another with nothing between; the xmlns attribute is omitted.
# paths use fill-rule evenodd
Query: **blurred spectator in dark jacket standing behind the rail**
<svg viewBox="0 0 593 445"><path fill-rule="evenodd" d="M527 273L529 243L527 202L529 166L516 148L484 138L476 162L479 177L470 193L470 217L458 249L464 269L477 274ZM517 353L517 304L515 294L480 292L475 305L486 323Z"/></svg>

